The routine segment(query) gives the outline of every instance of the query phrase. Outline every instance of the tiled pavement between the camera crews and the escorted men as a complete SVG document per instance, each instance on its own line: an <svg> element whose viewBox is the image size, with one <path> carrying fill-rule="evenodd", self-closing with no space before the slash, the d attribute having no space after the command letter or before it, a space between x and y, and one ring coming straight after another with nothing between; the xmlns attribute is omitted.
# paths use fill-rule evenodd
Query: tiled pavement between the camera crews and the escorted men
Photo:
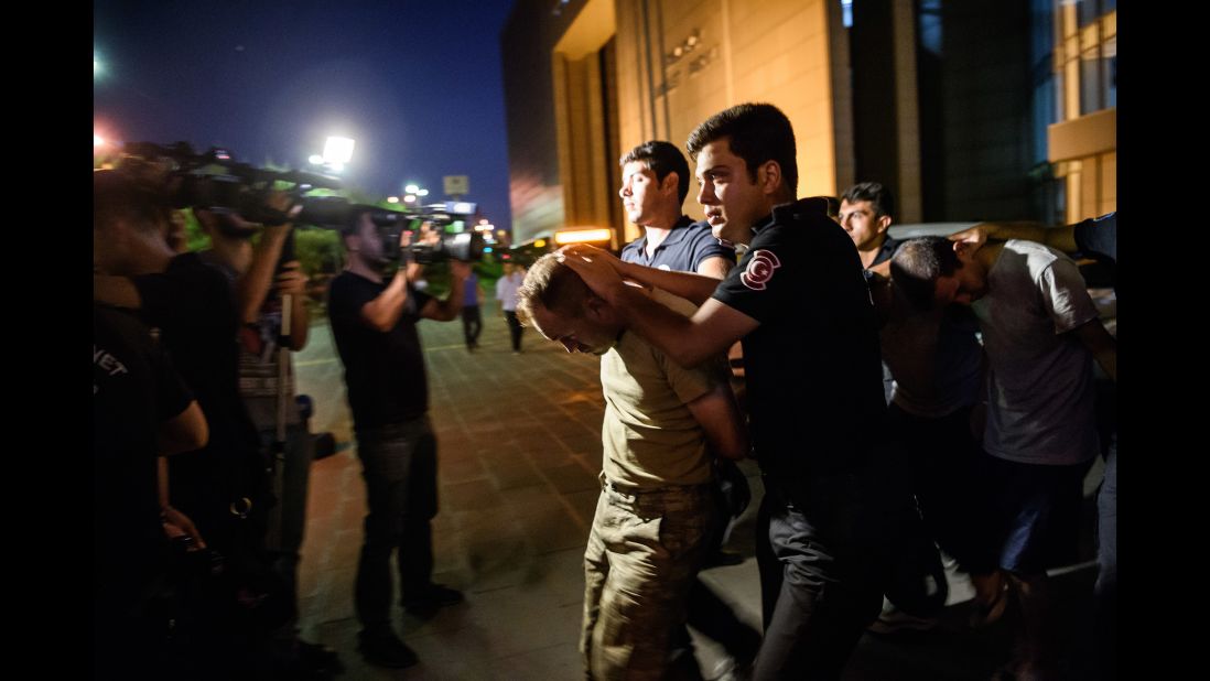
<svg viewBox="0 0 1210 681"><path fill-rule="evenodd" d="M299 575L302 635L340 653L346 668L341 679L583 679L576 646L582 556L599 494L604 400L598 359L567 354L529 329L524 352L512 353L507 325L494 305L484 307L480 348L473 353L463 345L457 321L425 321L420 329L439 443L433 578L461 589L466 602L431 619L394 606L396 629L420 657L414 668L378 668L357 653L352 596L365 494L342 367L321 319L294 360L299 392L315 400L311 431L332 432L338 451L312 464ZM703 576L741 619L760 630L753 530L762 486L754 462L742 468L754 498L726 548L744 560ZM1054 572L1073 631L1089 628L1095 565L1087 560L1095 555L1091 524L1100 477L1097 462L1085 481L1085 562ZM991 628L968 630L972 593L964 576L951 573L938 629L866 634L843 679L989 679L1009 658L1018 614L1010 607ZM720 648L696 634L695 644L710 679L722 659Z"/></svg>

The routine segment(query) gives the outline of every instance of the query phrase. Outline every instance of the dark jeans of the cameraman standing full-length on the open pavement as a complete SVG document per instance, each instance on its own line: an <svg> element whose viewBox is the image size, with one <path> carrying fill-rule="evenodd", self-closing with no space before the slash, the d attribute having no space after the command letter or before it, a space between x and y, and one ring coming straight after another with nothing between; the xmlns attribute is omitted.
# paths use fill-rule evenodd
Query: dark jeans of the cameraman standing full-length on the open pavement
<svg viewBox="0 0 1210 681"><path fill-rule="evenodd" d="M365 497L365 538L357 565L357 618L364 630L390 627L391 554L403 598L430 588L437 515L437 438L428 416L357 431Z"/></svg>

